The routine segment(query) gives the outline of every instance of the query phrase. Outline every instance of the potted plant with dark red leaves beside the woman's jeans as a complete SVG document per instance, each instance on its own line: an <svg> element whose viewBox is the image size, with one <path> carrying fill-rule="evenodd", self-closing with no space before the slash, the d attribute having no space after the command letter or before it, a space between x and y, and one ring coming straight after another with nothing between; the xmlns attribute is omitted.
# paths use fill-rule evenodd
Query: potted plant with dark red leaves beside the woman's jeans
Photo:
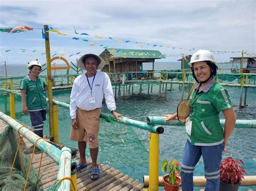
<svg viewBox="0 0 256 191"><path fill-rule="evenodd" d="M239 165L245 165L241 159L235 160L232 157L225 158L220 164L220 189L219 190L238 190L238 186L244 179L245 169Z"/></svg>

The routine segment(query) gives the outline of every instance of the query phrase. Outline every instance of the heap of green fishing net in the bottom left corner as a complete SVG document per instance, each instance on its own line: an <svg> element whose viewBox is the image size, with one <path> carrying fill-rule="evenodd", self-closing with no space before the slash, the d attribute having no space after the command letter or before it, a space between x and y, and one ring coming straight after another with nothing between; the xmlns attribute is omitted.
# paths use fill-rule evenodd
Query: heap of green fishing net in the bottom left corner
<svg viewBox="0 0 256 191"><path fill-rule="evenodd" d="M22 151L21 144L19 145L19 152L16 157L15 165L11 175L9 175L17 146L17 132L14 132L14 130L8 126L0 135L0 190L24 190L30 163L30 155L25 154L25 144L24 151ZM39 181L36 185L37 172L35 168L31 167L26 190L40 190L42 185L41 178L42 174L39 174Z"/></svg>

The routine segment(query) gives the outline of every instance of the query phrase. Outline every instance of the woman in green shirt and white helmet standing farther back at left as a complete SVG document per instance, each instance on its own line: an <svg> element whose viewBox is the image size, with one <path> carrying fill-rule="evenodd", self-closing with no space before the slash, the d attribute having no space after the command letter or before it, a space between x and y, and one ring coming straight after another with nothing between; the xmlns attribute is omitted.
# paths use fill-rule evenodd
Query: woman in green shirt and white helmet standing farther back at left
<svg viewBox="0 0 256 191"><path fill-rule="evenodd" d="M25 115L30 114L34 133L43 137L44 121L46 119L46 97L47 84L38 75L41 73L42 65L38 61L31 61L28 66L29 75L21 80L22 111ZM52 76L48 79L53 81Z"/></svg>

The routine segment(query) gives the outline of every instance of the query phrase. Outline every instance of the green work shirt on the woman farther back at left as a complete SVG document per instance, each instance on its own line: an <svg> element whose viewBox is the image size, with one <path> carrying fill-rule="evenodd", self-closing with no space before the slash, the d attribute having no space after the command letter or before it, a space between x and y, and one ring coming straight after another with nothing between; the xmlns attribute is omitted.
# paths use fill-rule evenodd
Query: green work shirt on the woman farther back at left
<svg viewBox="0 0 256 191"><path fill-rule="evenodd" d="M37 81L32 81L28 76L21 80L21 88L26 90L26 106L29 111L39 111L46 109L46 97L44 88L47 84L43 79L37 77Z"/></svg>

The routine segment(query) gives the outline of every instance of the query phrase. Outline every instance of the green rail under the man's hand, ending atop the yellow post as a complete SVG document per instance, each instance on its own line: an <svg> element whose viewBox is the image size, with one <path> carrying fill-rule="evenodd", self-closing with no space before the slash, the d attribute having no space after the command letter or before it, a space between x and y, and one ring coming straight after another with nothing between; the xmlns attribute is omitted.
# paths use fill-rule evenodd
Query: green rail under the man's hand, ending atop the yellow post
<svg viewBox="0 0 256 191"><path fill-rule="evenodd" d="M114 117L112 115L108 115L108 114L100 114L100 118L109 120L109 118L112 118L114 120ZM129 119L127 117L124 116L120 116L119 117L119 123L123 123L126 125L131 125L131 126L136 126L136 128L139 129L144 129L147 131L151 131L153 133L158 133L161 134L164 132L164 128L158 125L149 125L145 122L140 122L134 119Z"/></svg>

